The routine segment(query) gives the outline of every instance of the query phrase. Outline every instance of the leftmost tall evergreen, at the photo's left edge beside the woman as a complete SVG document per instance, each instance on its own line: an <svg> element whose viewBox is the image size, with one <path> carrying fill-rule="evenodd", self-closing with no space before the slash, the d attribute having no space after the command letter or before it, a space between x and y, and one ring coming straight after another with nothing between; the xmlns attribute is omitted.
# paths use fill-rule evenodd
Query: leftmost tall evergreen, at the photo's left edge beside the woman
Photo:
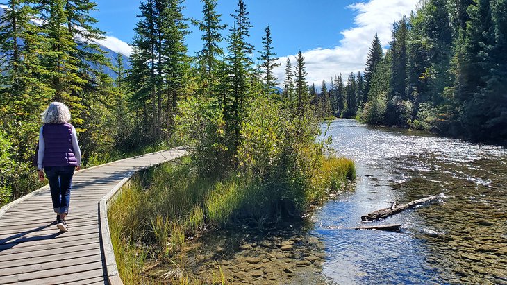
<svg viewBox="0 0 507 285"><path fill-rule="evenodd" d="M39 56L47 46L34 17L35 10L21 0L10 0L0 16L0 128L10 137L17 150L12 158L19 163L33 153L39 114L51 98Z"/></svg>

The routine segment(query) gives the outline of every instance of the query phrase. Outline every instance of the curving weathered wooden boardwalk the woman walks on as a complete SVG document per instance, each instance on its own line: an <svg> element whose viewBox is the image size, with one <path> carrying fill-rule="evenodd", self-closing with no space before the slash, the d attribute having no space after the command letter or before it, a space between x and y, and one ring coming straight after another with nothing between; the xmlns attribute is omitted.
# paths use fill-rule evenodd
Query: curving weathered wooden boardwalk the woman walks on
<svg viewBox="0 0 507 285"><path fill-rule="evenodd" d="M173 148L76 172L66 233L52 224L56 214L48 187L2 207L0 284L108 284L116 273L110 272L115 261L101 199L136 171L186 154Z"/></svg>

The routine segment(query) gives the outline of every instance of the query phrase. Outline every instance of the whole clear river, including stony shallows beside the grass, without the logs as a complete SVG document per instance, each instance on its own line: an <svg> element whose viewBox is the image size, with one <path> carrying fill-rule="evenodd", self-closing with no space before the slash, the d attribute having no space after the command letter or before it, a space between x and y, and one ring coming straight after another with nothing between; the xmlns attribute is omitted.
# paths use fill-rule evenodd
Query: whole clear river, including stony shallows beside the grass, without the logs
<svg viewBox="0 0 507 285"><path fill-rule="evenodd" d="M506 148L347 119L326 135L356 162L356 190L306 223L211 234L192 271L233 284L507 284ZM351 230L392 202L439 193L373 223L400 223L399 232Z"/></svg>

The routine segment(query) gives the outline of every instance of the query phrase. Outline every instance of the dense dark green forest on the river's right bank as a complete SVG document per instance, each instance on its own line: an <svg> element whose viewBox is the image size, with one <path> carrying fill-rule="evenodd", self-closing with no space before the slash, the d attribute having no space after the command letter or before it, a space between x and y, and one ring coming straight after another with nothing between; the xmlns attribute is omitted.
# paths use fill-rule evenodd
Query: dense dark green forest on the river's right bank
<svg viewBox="0 0 507 285"><path fill-rule="evenodd" d="M375 68L359 119L505 139L506 13L503 0L422 2L408 21L395 24L389 59ZM374 83L386 64L389 80ZM385 113L379 112L384 101Z"/></svg>

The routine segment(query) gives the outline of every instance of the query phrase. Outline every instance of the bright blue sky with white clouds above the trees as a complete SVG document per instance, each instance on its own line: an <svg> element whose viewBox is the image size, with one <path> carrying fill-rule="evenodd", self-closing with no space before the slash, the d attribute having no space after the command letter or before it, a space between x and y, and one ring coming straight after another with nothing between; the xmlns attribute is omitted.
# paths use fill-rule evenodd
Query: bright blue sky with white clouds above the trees
<svg viewBox="0 0 507 285"><path fill-rule="evenodd" d="M251 28L250 42L261 49L261 37L267 24L272 30L274 51L285 64L299 49L304 52L308 81L319 83L335 73L348 74L362 71L375 32L383 44L390 41L392 22L409 15L418 0L245 0ZM97 26L106 32L103 42L113 51L128 53L133 28L138 19L139 0L97 0ZM121 3L121 4L119 4ZM185 1L185 16L201 18L199 0ZM217 11L222 21L229 24L237 0L219 0ZM202 46L197 28L187 38L190 55ZM224 33L226 35L226 33ZM294 62L294 60L292 60ZM283 65L284 65L283 64ZM283 67L276 74L283 78Z"/></svg>

